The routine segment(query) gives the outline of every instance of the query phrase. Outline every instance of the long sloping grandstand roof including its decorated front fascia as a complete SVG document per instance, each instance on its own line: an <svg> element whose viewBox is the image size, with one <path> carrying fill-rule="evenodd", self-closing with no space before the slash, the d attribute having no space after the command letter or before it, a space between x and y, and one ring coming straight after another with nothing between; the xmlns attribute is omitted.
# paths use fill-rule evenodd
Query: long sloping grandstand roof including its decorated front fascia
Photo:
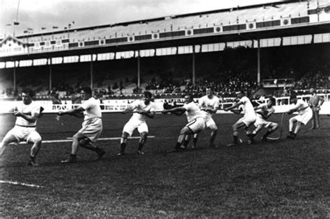
<svg viewBox="0 0 330 219"><path fill-rule="evenodd" d="M45 42L55 44L58 40L63 44L67 43L68 48L40 49L40 51L37 49L30 54L6 56L1 57L0 60L24 59L26 56L29 58L71 56L327 33L330 29L329 21L310 22L311 14L317 13L319 7L316 1L276 2L89 26L54 33L21 35L17 38L29 44L29 47L45 44ZM329 7L330 5L327 6ZM285 20L290 25L282 24Z"/></svg>

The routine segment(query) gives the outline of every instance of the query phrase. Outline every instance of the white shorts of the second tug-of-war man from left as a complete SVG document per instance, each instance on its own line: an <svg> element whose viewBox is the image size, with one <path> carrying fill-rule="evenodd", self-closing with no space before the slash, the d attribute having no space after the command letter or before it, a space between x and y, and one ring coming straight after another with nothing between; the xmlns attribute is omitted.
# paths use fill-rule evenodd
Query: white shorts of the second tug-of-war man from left
<svg viewBox="0 0 330 219"><path fill-rule="evenodd" d="M102 119L100 117L94 117L84 120L82 128L78 132L95 142L100 137L102 129Z"/></svg>

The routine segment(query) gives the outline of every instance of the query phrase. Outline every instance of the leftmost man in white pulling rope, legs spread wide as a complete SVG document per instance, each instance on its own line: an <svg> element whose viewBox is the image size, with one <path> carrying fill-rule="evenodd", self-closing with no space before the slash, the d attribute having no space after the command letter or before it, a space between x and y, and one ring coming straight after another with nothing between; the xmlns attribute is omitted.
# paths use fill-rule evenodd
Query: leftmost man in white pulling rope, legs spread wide
<svg viewBox="0 0 330 219"><path fill-rule="evenodd" d="M22 92L22 102L13 108L15 115L15 127L6 133L0 145L0 156L9 143L19 143L23 140L33 144L31 147L30 160L28 165L37 166L36 155L41 147L41 136L36 131L37 120L41 112L41 107L33 102L33 90L25 89Z"/></svg>

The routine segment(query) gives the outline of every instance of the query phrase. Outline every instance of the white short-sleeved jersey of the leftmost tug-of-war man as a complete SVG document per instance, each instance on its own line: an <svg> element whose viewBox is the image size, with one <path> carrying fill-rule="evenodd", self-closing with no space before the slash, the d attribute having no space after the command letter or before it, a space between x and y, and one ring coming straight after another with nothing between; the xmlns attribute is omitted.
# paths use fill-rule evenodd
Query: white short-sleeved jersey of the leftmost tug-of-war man
<svg viewBox="0 0 330 219"><path fill-rule="evenodd" d="M29 105L25 105L23 102L20 102L17 106L17 111L24 113L26 115L37 115L40 113L40 105L37 102L32 101ZM35 122L29 122L23 117L17 116L15 124L24 127L35 127L37 120Z"/></svg>

